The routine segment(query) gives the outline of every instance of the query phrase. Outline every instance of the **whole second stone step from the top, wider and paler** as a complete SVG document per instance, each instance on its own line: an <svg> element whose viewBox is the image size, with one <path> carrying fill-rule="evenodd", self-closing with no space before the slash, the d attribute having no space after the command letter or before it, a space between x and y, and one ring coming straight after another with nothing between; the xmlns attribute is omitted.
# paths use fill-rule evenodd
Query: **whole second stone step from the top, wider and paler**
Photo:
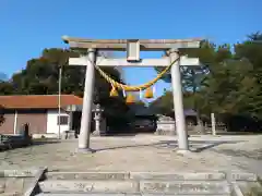
<svg viewBox="0 0 262 196"><path fill-rule="evenodd" d="M182 195L228 195L231 187L226 181L69 181L47 180L39 182L43 193L151 193Z"/></svg>

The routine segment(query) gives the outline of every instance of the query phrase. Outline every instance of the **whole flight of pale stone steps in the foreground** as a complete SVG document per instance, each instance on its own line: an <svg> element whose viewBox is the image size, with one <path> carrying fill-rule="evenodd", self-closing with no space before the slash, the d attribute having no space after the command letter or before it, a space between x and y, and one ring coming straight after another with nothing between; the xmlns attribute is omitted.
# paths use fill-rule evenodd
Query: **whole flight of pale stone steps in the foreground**
<svg viewBox="0 0 262 196"><path fill-rule="evenodd" d="M226 172L51 172L39 182L40 196L62 195L236 195L231 182L252 183L252 173ZM236 183L235 183L236 184ZM237 194L239 195L239 194Z"/></svg>

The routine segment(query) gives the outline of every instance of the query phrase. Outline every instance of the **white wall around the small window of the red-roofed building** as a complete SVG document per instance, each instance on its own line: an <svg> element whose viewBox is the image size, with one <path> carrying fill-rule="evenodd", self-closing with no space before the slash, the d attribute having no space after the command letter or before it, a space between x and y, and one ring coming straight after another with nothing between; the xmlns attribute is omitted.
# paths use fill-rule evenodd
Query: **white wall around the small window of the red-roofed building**
<svg viewBox="0 0 262 196"><path fill-rule="evenodd" d="M61 110L61 115L68 115L66 111ZM58 110L48 110L47 111L47 133L58 134L59 125L58 125ZM70 121L70 118L69 118ZM69 122L67 125L60 125L60 132L69 131Z"/></svg>

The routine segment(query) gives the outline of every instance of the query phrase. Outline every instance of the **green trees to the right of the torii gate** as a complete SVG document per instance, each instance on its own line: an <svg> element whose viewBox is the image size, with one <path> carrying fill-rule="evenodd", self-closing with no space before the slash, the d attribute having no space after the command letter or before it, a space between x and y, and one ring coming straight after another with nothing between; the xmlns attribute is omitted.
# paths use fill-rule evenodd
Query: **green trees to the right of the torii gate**
<svg viewBox="0 0 262 196"><path fill-rule="evenodd" d="M211 112L229 115L247 115L262 119L262 34L254 33L242 42L215 45L207 40L194 51L184 51L189 57L199 57L201 66L181 68L184 107L200 114ZM160 72L160 68L155 68ZM163 81L170 83L170 74ZM152 102L172 109L172 95ZM158 103L157 103L158 102Z"/></svg>

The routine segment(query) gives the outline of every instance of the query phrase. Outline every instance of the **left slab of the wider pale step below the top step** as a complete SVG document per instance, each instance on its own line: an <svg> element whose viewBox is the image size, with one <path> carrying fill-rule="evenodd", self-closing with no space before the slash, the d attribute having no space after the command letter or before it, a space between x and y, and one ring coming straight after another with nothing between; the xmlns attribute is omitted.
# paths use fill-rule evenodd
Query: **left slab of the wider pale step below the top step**
<svg viewBox="0 0 262 196"><path fill-rule="evenodd" d="M134 181L44 181L39 182L43 193L136 193Z"/></svg>

